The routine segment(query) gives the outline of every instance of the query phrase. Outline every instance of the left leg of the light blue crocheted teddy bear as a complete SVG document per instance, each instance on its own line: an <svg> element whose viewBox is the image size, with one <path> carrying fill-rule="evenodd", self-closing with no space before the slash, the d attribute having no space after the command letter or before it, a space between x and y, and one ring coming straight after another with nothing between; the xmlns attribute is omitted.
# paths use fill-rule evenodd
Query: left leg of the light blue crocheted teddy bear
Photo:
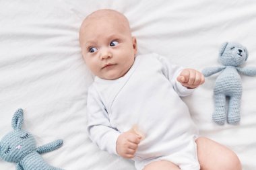
<svg viewBox="0 0 256 170"><path fill-rule="evenodd" d="M226 120L226 96L224 94L216 94L215 96L215 112L212 114L212 120L216 124L224 124Z"/></svg>

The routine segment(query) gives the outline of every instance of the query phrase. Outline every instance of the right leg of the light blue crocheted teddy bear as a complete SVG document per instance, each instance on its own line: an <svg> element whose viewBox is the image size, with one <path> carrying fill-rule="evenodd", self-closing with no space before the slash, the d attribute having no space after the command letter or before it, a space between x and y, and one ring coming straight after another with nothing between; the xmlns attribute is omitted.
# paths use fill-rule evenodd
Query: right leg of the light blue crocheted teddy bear
<svg viewBox="0 0 256 170"><path fill-rule="evenodd" d="M238 124L240 122L240 104L241 96L232 96L230 97L228 105L228 123L229 124Z"/></svg>

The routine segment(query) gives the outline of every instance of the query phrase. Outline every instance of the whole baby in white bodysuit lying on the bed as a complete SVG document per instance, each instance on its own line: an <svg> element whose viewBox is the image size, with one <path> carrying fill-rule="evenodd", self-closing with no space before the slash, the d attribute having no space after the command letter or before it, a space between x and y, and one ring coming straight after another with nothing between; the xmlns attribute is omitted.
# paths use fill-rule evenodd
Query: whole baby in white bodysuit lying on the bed
<svg viewBox="0 0 256 170"><path fill-rule="evenodd" d="M96 75L88 90L88 135L136 169L241 170L225 146L199 137L181 96L204 83L158 54L137 54L127 18L101 9L84 19L82 54ZM135 125L135 126L134 126Z"/></svg>

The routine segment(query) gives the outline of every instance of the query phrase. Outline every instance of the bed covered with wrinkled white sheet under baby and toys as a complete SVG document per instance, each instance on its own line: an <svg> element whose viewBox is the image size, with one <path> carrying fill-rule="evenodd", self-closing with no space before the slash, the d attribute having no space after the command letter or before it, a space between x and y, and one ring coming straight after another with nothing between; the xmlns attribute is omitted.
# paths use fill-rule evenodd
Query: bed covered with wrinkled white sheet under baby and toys
<svg viewBox="0 0 256 170"><path fill-rule="evenodd" d="M64 140L61 148L42 155L49 164L67 170L135 169L133 161L100 151L86 132L86 97L94 76L82 58L78 31L86 15L104 8L127 16L139 54L156 52L201 71L220 65L220 45L234 41L249 50L245 66L256 67L253 0L1 1L0 138L11 130L15 110L23 108L23 128L38 146ZM217 76L183 100L202 136L231 148L243 170L255 170L256 77L242 75L241 123L218 126L212 122ZM15 165L0 160L0 169Z"/></svg>

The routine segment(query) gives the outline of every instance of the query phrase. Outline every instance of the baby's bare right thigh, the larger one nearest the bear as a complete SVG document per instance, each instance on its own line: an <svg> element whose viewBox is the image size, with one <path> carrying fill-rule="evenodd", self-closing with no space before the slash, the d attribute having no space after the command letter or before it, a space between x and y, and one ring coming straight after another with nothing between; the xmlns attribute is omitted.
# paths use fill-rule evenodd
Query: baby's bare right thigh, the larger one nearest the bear
<svg viewBox="0 0 256 170"><path fill-rule="evenodd" d="M196 140L201 170L241 170L241 162L229 148L208 138Z"/></svg>

